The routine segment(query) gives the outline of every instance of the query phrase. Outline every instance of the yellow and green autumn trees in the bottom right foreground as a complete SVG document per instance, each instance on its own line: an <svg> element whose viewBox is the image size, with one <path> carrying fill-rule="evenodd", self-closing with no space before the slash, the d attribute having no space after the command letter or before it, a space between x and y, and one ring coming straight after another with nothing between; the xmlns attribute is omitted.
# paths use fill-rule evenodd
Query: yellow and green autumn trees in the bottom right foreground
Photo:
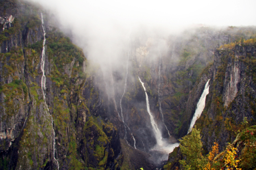
<svg viewBox="0 0 256 170"><path fill-rule="evenodd" d="M203 156L200 130L193 128L191 133L180 139L180 150L185 159L180 160L180 167L177 166L175 169L255 169L256 126L248 128L246 120L241 125L245 129L237 134L236 140L232 144L228 143L224 151L219 153L218 143L214 142L212 150L205 156ZM177 148L172 152L172 155L177 155ZM171 167L172 163L164 165L164 169Z"/></svg>

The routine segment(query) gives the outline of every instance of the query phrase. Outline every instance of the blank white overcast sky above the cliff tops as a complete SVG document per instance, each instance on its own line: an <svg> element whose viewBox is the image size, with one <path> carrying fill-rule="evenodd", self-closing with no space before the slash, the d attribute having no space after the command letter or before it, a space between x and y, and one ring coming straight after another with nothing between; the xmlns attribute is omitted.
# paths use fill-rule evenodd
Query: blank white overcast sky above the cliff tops
<svg viewBox="0 0 256 170"><path fill-rule="evenodd" d="M68 18L119 24L255 25L256 1L82 1L34 0Z"/></svg>

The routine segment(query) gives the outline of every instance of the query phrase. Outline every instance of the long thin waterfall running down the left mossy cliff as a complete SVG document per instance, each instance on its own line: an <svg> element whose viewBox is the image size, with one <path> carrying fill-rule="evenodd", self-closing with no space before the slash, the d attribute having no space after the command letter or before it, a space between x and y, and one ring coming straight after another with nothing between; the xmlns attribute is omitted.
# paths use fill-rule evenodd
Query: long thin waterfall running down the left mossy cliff
<svg viewBox="0 0 256 170"><path fill-rule="evenodd" d="M42 70L42 91L43 91L43 97L44 97L44 104L46 104L46 94L45 94L45 90L46 90L46 75L44 73L44 63L45 63L45 57L46 57L46 29L44 28L44 19L43 19L43 14L41 12L41 19L42 19L42 27L43 27L43 32L44 32L44 41L43 41L43 50L42 50L42 59L41 59L41 70ZM51 124L52 124L52 131L53 131L53 143L52 143L52 148L53 148L53 159L55 160L56 164L57 164L57 168L59 169L59 162L57 161L57 159L55 158L55 151L56 151L56 142L55 142L55 131L53 128L53 119L51 114L49 113L49 108L48 105L46 104L46 108L48 111L49 116L51 117ZM57 151L56 151L57 152Z"/></svg>

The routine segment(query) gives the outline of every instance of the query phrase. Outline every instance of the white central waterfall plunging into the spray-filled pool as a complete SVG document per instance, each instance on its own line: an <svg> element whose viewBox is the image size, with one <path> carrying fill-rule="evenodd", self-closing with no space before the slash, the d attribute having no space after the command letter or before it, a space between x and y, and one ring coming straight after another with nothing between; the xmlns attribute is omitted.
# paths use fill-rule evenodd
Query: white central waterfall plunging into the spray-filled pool
<svg viewBox="0 0 256 170"><path fill-rule="evenodd" d="M154 120L154 117L153 117L152 113L150 112L150 105L149 105L149 102L148 102L148 96L147 96L146 88L144 87L144 83L141 81L140 78L139 78L139 81L141 82L142 87L143 87L143 89L145 91L145 94L146 94L147 113L150 115L150 122L151 122L151 125L153 127L153 131L154 131L155 138L156 138L156 143L159 146L162 146L163 145L162 134L161 134L160 130L158 129L158 125L156 125L156 122Z"/></svg>

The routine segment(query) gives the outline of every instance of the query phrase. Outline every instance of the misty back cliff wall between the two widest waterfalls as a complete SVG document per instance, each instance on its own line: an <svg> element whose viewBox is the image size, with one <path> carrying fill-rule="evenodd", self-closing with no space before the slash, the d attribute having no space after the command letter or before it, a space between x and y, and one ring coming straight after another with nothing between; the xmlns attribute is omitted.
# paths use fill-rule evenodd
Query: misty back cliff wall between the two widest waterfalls
<svg viewBox="0 0 256 170"><path fill-rule="evenodd" d="M245 39L255 32L253 28L241 29L248 33ZM141 150L148 150L156 143L146 110L146 96L138 76L146 87L150 110L163 138L168 138L169 134L176 138L183 137L187 134L205 83L212 79L214 49L221 44L240 40L240 36L243 36L239 33L241 29L216 31L198 28L192 33L164 40L168 44L165 50L158 48L163 43L158 38L142 36L132 41L129 59L126 61L128 55L124 59L129 64L127 88L122 99L122 114L130 128L127 141L131 146L134 145L131 133ZM114 84L125 84L126 66L123 65L123 73L113 71ZM119 113L119 101L123 94L121 88L118 91L118 87L115 87L114 90ZM125 130L121 130L121 137L125 137Z"/></svg>

